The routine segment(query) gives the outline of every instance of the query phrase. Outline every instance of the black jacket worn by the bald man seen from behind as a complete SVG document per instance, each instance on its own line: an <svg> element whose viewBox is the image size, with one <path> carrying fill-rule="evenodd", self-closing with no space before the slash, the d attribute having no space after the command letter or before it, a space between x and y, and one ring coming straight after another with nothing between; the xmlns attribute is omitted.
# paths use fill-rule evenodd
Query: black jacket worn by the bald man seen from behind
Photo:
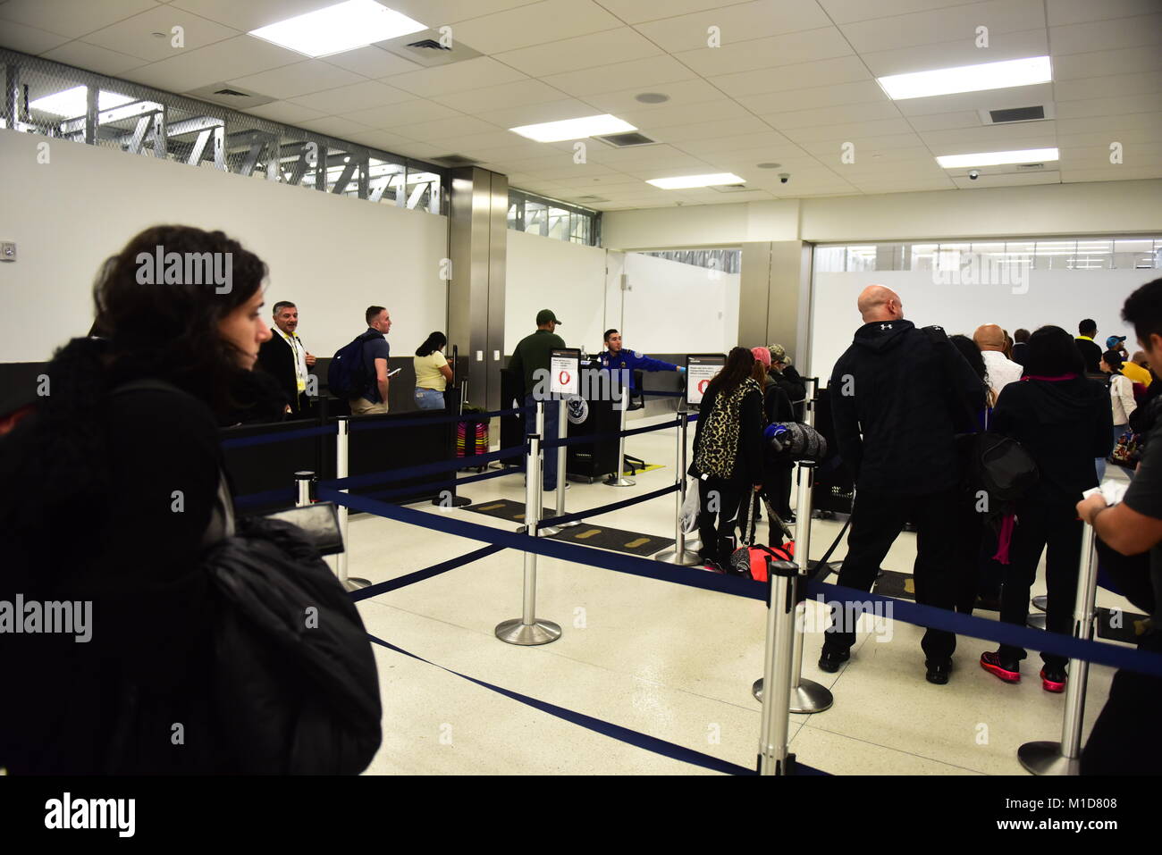
<svg viewBox="0 0 1162 855"><path fill-rule="evenodd" d="M932 329L863 324L835 362L835 443L860 489L923 495L959 482L955 425L961 412L984 405L983 386L944 331Z"/></svg>

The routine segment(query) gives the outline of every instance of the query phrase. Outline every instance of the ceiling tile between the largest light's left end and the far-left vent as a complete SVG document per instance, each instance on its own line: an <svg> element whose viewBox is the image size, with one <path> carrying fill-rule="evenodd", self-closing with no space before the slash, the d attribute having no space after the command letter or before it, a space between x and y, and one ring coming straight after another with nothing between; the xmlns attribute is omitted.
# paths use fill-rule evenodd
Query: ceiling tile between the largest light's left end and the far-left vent
<svg viewBox="0 0 1162 855"><path fill-rule="evenodd" d="M127 77L159 89L189 92L222 80L301 62L301 53L253 36L235 36L159 63L143 65Z"/></svg>

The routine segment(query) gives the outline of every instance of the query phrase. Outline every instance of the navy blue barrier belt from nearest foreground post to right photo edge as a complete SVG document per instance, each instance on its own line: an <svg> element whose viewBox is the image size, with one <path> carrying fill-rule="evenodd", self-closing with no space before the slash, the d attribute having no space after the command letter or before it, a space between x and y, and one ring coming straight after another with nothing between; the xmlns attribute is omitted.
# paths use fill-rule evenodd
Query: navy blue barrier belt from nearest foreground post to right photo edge
<svg viewBox="0 0 1162 855"><path fill-rule="evenodd" d="M1084 659L1096 664L1105 664L1111 668L1126 668L1139 674L1162 677L1162 655L1157 653L1133 651L1104 641L1089 641L1057 632L1032 630L1027 626L1005 624L999 620L957 615L956 612L934 605L910 603L906 599L896 599L895 597L869 594L855 588L845 588L838 584L827 584L826 582L810 581L808 582L806 590L808 596L824 594L841 602L889 603L892 608L891 618L894 620L903 620L908 624L930 626L934 630L945 630L954 632L957 635L970 635L987 641L999 641L1013 647L1031 647L1034 651L1048 651L1049 653L1056 653L1060 656L1069 659Z"/></svg>

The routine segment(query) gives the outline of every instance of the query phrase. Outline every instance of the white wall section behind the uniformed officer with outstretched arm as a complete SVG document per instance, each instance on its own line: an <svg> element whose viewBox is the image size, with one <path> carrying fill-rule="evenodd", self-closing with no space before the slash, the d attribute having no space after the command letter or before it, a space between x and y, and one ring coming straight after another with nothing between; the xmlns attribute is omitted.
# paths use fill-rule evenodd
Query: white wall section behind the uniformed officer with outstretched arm
<svg viewBox="0 0 1162 855"><path fill-rule="evenodd" d="M738 273L630 252L625 274L631 287L618 329L626 347L650 354L725 353L734 346Z"/></svg>

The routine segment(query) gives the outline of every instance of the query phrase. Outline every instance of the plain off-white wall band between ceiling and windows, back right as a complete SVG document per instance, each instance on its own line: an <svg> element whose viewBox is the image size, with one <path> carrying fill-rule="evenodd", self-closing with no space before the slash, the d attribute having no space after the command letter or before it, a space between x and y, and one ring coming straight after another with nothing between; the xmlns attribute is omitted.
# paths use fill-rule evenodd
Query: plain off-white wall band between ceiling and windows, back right
<svg viewBox="0 0 1162 855"><path fill-rule="evenodd" d="M753 240L908 240L1106 235L1162 230L1162 180L982 187L615 210L602 239L617 250L730 246Z"/></svg>

